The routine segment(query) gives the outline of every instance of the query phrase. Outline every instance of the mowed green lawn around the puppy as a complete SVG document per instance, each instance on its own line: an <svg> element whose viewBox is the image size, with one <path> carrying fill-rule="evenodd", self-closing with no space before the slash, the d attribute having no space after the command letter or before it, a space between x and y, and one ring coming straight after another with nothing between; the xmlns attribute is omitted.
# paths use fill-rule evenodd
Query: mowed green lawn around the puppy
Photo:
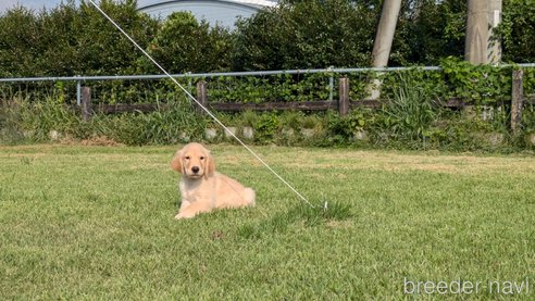
<svg viewBox="0 0 535 301"><path fill-rule="evenodd" d="M0 147L0 299L535 298L533 155L253 147L350 209L312 223L246 150L210 146L257 206L175 221L176 148Z"/></svg>

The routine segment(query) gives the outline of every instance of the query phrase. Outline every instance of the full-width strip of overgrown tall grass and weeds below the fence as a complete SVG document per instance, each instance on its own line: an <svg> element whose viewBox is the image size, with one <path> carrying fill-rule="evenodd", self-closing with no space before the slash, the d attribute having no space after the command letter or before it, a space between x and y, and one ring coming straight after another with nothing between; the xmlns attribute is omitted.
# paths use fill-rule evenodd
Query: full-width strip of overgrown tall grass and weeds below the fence
<svg viewBox="0 0 535 301"><path fill-rule="evenodd" d="M403 81L405 80L405 81ZM523 131L512 137L506 110L495 110L493 120L439 109L414 79L400 79L399 90L381 110L356 109L347 116L337 113L266 112L216 115L237 135L252 128L249 143L278 146L397 149L438 149L451 151L515 152L535 150L533 108L524 110ZM43 101L14 98L0 106L0 143L58 140L113 141L128 146L175 145L190 140L232 141L208 116L200 115L189 101L176 99L159 103L154 112L107 115L96 113L83 122L79 109L69 106L57 96ZM219 130L208 138L207 128Z"/></svg>

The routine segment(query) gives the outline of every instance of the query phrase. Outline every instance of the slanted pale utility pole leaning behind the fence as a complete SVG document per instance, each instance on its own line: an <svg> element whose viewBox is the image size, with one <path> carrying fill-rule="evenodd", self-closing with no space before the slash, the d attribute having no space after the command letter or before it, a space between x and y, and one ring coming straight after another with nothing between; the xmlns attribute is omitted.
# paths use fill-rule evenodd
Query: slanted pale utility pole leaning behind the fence
<svg viewBox="0 0 535 301"><path fill-rule="evenodd" d="M390 57L394 34L398 22L401 0L384 0L377 33L373 42L372 66L386 67ZM378 99L381 81L373 80L373 86L369 87L371 99Z"/></svg>

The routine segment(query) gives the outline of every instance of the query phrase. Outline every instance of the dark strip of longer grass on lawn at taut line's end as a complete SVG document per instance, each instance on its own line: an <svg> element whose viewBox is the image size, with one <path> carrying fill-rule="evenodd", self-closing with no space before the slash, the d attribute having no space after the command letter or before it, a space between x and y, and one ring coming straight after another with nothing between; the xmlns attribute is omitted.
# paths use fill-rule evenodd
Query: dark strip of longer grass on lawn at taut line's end
<svg viewBox="0 0 535 301"><path fill-rule="evenodd" d="M263 234L283 233L290 225L303 222L304 226L313 227L331 221L343 221L351 217L351 210L348 204L339 202L328 202L310 206L299 203L286 212L273 216L271 220L262 221L258 224L242 225L238 228L238 236L254 239Z"/></svg>

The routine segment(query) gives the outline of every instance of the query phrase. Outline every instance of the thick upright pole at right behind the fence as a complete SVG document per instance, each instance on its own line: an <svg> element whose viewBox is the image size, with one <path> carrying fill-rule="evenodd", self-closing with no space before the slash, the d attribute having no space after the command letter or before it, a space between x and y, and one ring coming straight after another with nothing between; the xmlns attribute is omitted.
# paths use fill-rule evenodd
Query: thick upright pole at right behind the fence
<svg viewBox="0 0 535 301"><path fill-rule="evenodd" d="M472 64L499 63L501 45L493 37L501 18L501 0L468 0L464 59Z"/></svg>

